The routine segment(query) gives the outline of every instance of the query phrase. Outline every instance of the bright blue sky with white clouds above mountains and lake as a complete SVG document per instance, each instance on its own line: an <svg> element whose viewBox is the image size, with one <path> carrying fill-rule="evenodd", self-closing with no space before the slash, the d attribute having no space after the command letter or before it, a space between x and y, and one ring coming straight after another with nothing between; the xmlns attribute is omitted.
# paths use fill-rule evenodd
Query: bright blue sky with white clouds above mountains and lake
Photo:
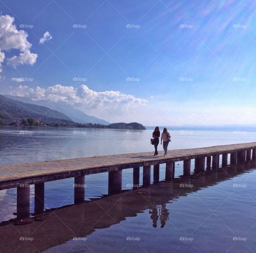
<svg viewBox="0 0 256 253"><path fill-rule="evenodd" d="M256 124L255 1L0 1L0 94L109 122Z"/></svg>

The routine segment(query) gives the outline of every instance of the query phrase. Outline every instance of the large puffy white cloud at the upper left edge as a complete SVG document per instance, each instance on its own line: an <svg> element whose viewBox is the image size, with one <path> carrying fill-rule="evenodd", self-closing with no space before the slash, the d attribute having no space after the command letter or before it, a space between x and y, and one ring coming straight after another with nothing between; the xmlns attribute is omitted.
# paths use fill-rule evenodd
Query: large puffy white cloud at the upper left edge
<svg viewBox="0 0 256 253"><path fill-rule="evenodd" d="M37 59L37 54L30 52L32 45L27 41L28 34L24 30L18 31L13 22L14 18L9 15L0 16L0 72L5 59L3 50L17 49L21 52L18 56L7 59L14 67L19 64L33 65Z"/></svg>

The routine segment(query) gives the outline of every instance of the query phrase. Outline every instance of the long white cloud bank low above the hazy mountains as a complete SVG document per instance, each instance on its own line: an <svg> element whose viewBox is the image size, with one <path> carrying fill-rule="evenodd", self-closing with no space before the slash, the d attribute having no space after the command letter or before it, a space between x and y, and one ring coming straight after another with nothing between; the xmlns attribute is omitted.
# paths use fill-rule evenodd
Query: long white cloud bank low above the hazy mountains
<svg viewBox="0 0 256 253"><path fill-rule="evenodd" d="M133 95L124 94L120 91L94 91L86 85L78 88L72 86L54 85L48 88L30 88L28 86L19 85L14 91L10 92L13 96L25 96L34 100L47 99L52 102L63 102L70 104L85 113L99 116L106 116L103 111L115 115L115 121L123 119L123 115L127 113L131 115L138 114L148 103L147 100L136 98ZM114 121L113 118L109 118Z"/></svg>

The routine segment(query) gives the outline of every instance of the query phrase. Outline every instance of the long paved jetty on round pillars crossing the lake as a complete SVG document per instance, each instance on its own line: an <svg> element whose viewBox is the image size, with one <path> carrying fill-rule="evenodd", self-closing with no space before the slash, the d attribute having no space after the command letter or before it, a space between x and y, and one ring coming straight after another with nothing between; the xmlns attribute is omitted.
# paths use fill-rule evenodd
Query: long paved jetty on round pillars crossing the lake
<svg viewBox="0 0 256 253"><path fill-rule="evenodd" d="M159 164L166 164L165 180L174 178L175 162L183 161L183 175L191 173L191 159L195 159L194 172L217 170L219 156L222 155L221 167L256 161L256 142L203 147L196 149L169 150L166 157L163 151L158 156L152 152L109 155L88 158L66 159L58 161L22 163L0 166L0 190L17 187L17 218L30 216L30 186L35 187L35 213L44 210L44 183L74 178L74 203L85 200L85 175L109 172L108 193L110 195L122 191L122 170L133 168L133 184L139 184L139 170L143 167L143 186L149 187L151 182L151 166L154 166L154 182L159 180Z"/></svg>

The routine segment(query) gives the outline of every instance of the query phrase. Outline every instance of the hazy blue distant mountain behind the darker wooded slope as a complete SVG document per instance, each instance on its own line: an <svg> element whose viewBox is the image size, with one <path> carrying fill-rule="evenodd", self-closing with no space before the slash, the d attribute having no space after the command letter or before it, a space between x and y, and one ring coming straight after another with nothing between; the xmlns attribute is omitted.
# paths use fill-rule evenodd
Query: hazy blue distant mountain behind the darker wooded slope
<svg viewBox="0 0 256 253"><path fill-rule="evenodd" d="M109 125L110 123L103 119L98 119L94 116L87 115L86 113L80 111L79 109L76 109L70 105L67 105L65 103L61 102L52 102L48 100L37 100L34 101L30 98L21 97L21 96L11 96L11 95L3 95L6 98L10 98L13 100L18 100L23 103L29 103L34 104L37 106L43 106L50 108L51 110L61 112L63 115L66 115L69 120L77 122L77 123L96 123L96 124L102 124L102 125Z"/></svg>

